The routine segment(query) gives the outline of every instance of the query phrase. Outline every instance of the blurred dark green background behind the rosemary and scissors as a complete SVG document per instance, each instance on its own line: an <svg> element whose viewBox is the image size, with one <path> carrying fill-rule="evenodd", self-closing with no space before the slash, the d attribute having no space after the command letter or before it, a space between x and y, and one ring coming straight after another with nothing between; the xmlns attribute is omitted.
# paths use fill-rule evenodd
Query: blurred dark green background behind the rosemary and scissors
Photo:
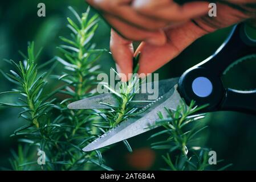
<svg viewBox="0 0 256 182"><path fill-rule="evenodd" d="M37 5L46 4L46 17L37 16ZM66 28L68 6L74 7L79 13L86 11L83 0L10 0L0 2L0 68L8 72L10 65L3 59L20 60L18 50L26 52L27 42L35 41L36 49L43 47L40 63L58 55L56 46L60 44L59 36L70 34ZM101 20L94 42L98 48L109 49L109 27ZM204 36L187 48L176 59L161 68L160 79L177 77L186 69L210 56L225 40L230 28ZM148 60L151 61L151 60ZM105 54L100 62L103 71L114 67L111 55ZM245 61L231 69L223 77L225 86L234 89L256 88L255 61ZM13 85L0 75L0 92L10 90ZM51 81L51 84L52 83ZM15 102L14 97L0 96L1 102ZM256 104L255 104L256 105ZM18 118L18 110L0 108L0 166L9 167L10 149L17 150L17 140L10 138L13 131L22 126ZM232 163L229 169L256 169L256 116L237 112L210 113L205 118L208 129L201 134L204 146L217 152L217 160L224 159L219 167ZM123 144L117 144L104 154L107 164L114 169L159 169L164 167L162 151L150 149L151 140L147 138L154 133L140 135L129 139L133 154L128 154Z"/></svg>

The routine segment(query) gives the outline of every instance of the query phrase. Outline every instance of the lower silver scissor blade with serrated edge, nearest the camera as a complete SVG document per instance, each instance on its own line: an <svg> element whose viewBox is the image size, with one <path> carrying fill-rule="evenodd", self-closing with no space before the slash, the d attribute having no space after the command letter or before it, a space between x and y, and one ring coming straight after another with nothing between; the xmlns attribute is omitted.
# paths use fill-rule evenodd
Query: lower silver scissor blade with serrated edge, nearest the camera
<svg viewBox="0 0 256 182"><path fill-rule="evenodd" d="M149 104L150 109L147 110L143 117L130 118L127 121L122 122L117 127L109 130L107 133L94 140L94 142L88 144L88 146L83 148L83 151L87 152L109 146L110 144L135 137L136 135L154 129L157 127L155 124L156 120L159 119L158 113L161 112L163 115L166 115L164 107L176 110L181 100L182 98L177 92L176 85L169 90L168 93L162 96L160 101L156 101L155 104ZM160 102L160 104L157 104L157 102Z"/></svg>

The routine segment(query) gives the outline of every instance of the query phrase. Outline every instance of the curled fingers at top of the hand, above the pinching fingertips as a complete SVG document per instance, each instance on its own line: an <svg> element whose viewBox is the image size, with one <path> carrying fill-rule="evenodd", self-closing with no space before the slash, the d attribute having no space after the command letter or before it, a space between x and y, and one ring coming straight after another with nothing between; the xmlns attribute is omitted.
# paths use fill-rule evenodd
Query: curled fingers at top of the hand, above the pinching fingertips
<svg viewBox="0 0 256 182"><path fill-rule="evenodd" d="M183 6L173 0L86 0L103 16L116 32L123 38L133 41L145 41L154 45L166 43L166 36L162 28L174 26L188 21L208 11L207 2L189 2ZM143 4L142 4L143 3ZM146 9L154 8L159 18L152 18L151 14L144 15ZM164 8L164 11L163 11ZM139 9L140 11L137 11ZM157 16L157 14L156 14Z"/></svg>

